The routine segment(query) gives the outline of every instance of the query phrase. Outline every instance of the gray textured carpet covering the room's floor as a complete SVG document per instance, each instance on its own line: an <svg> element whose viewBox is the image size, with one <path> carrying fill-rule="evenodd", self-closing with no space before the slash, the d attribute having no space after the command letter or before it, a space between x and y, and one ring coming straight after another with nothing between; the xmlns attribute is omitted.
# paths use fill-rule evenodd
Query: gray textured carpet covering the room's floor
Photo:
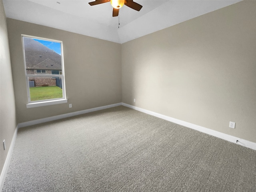
<svg viewBox="0 0 256 192"><path fill-rule="evenodd" d="M20 128L4 192L255 192L256 151L119 106Z"/></svg>

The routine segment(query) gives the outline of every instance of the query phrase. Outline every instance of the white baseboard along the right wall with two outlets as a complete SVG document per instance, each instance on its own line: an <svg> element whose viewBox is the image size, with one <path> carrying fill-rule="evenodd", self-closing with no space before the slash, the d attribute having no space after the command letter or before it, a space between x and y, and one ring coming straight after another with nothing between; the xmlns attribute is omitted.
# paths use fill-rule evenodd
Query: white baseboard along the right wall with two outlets
<svg viewBox="0 0 256 192"><path fill-rule="evenodd" d="M152 111L149 111L149 110L146 110L146 109L142 109L142 108L139 108L139 107L136 107L136 106L132 106L132 105L129 105L129 104L126 104L126 103L122 103L122 105L126 106L126 107L129 107L129 108L132 108L132 109L135 109L135 110L138 110L140 112L144 112L146 114L156 116L158 118L161 118L161 119L164 119L164 120L167 120L167 121L170 121L170 122L173 122L173 123L176 123L176 124L188 127L188 128L192 128L194 130L197 130L197 131L200 131L200 132L203 132L203 133L206 133L206 134L209 134L209 135L212 135L212 136L215 136L215 137L227 140L227 141L230 141L232 143L239 144L239 145L251 148L253 150L256 150L256 143L254 143L254 142L244 140L244 139L241 139L241 138L237 138L237 137L234 137L234 136L222 133L222 132L218 132L218 131L215 131L215 130L212 130L212 129L208 129L208 128L198 126L198 125L195 125L195 124L192 124L192 123L188 123L188 122L185 122L185 121L182 121L182 120L178 120L178 119L175 119L175 118L172 118L172 117L169 117L169 116L165 116L165 115L162 115L162 114L159 114L159 113L156 113L156 112L152 112ZM237 140L238 140L238 142L236 142Z"/></svg>

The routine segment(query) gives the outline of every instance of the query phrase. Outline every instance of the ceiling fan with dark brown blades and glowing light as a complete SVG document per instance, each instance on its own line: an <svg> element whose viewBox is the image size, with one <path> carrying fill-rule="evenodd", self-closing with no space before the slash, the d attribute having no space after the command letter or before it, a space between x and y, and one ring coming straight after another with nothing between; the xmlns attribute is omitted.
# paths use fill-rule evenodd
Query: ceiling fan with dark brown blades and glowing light
<svg viewBox="0 0 256 192"><path fill-rule="evenodd" d="M113 14L112 14L113 17L118 16L119 9L123 5L126 5L136 11L140 11L140 9L142 8L140 4L134 2L133 0L95 0L93 2L90 2L89 4L92 6L92 5L98 5L106 2L110 2L113 7Z"/></svg>

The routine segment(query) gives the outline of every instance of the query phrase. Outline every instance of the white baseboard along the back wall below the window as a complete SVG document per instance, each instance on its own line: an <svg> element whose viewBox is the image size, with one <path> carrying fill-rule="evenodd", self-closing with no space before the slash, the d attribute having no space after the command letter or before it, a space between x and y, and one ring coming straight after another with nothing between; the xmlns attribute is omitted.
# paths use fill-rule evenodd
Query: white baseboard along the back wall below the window
<svg viewBox="0 0 256 192"><path fill-rule="evenodd" d="M62 114L62 115L56 115L56 116L52 116L52 117L37 119L37 120L28 121L28 122L24 122L24 123L19 123L18 128L26 127L26 126L30 126L30 125L36 125L36 124L40 124L40 123L45 123L45 122L49 122L49 121L54 121L54 120L58 120L58 119L63 119L63 118L67 118L67 117L72 117L72 116L76 116L76 115L81 115L81 114L85 114L85 113L90 113L90 112L94 112L94 111L99 111L102 109L117 107L120 105L122 105L122 103L116 103L116 104L86 109L86 110L82 110L82 111L76 111L76 112L72 112L72 113L66 113L66 114Z"/></svg>

